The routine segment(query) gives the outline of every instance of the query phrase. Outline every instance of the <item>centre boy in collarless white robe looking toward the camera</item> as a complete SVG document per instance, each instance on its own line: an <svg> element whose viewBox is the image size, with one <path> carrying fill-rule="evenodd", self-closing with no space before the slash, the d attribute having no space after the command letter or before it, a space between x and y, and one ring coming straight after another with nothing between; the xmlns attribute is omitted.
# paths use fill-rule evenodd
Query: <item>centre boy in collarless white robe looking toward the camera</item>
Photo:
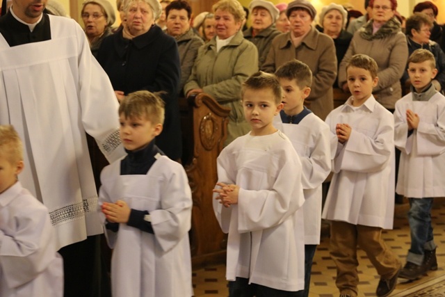
<svg viewBox="0 0 445 297"><path fill-rule="evenodd" d="M229 296L295 297L304 287L304 202L301 163L289 139L273 127L282 90L257 72L242 86L252 130L218 156L213 209L229 233Z"/></svg>

